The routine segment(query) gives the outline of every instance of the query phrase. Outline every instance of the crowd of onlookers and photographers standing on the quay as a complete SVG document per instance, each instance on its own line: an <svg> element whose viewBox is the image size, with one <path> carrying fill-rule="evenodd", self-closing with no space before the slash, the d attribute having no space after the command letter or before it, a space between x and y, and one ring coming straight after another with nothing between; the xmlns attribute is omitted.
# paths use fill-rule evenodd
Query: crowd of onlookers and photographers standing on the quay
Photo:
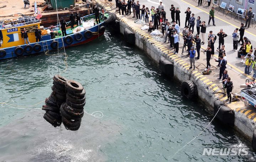
<svg viewBox="0 0 256 162"><path fill-rule="evenodd" d="M200 1L199 1L200 2ZM198 2L198 3L199 3ZM202 5L202 4L201 4ZM186 9L184 12L186 14L185 20L185 26L183 29L181 29L181 23L180 23L180 13L179 7L174 7L174 5L171 5L169 7L169 10L171 11L171 19L166 18L166 11L164 10L164 6L162 5L162 2L158 5L158 8L155 8L154 6L151 6L149 9L145 5L140 5L139 1L135 0L128 0L127 3L125 0L116 0L116 7L119 9L120 15L131 15L133 13L133 18L140 19L146 22L148 25L148 32L152 32L153 30L161 29L162 36L164 38L164 43L168 42L170 43L169 48L173 49L173 53L177 54L179 53L179 42L180 42L180 35L182 32L182 37L184 39L183 47L187 49L187 56L190 60L190 68L195 70L195 59L200 59L200 49L201 44L204 45L207 43L208 47L204 50L207 56L207 63L205 71L209 71L211 68L210 65L210 59L213 58L213 55L215 52L218 52L218 59L215 59L216 62L218 62L218 67L220 69L219 74L219 80L223 83L223 86L233 86L230 83L230 78L228 77L227 70L226 70L226 64L227 64L227 56L225 51L225 45L224 45L224 39L225 37L230 34L233 39L233 51L238 51L239 55L241 55L241 63L245 64L245 73L250 74L252 71L254 72L253 77L256 77L256 58L254 58L253 48L251 45L250 40L247 37L244 37L245 27L250 26L250 20L252 11L251 7L248 10L247 17L246 17L246 25L244 26L244 23L241 23L240 28L234 29L234 32L226 34L223 29L220 29L220 31L216 34L213 33L213 31L209 31L208 36L206 36L207 33L207 24L205 21L201 21L201 17L197 16L195 17L195 14L192 13L190 10L190 7ZM127 7L127 8L126 8ZM122 12L121 12L122 11ZM132 11L132 12L131 12ZM215 9L214 7L211 7L209 11L209 20L208 20L208 26L210 25L211 21L213 23L213 26L215 26L214 21L214 14ZM151 20L150 20L151 17ZM196 26L196 31L194 27ZM196 34L195 34L196 32ZM208 38L208 41L205 41L205 38ZM217 40L218 39L218 40ZM201 41L202 40L202 41ZM218 47L215 49L215 42L218 41ZM241 47L239 49L239 43L241 42ZM255 48L256 50L256 48ZM183 53L183 51L182 51ZM193 65L193 67L192 67ZM225 94L224 96L228 95L224 90ZM231 98L231 97L230 97Z"/></svg>

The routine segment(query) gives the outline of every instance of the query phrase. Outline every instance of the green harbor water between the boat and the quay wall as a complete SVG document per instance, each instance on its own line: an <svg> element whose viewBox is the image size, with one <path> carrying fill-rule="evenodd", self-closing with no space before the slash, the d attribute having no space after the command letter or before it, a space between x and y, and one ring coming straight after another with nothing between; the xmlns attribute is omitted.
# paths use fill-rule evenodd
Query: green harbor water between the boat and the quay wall
<svg viewBox="0 0 256 162"><path fill-rule="evenodd" d="M0 107L0 161L255 161L250 143L216 120L183 147L213 116L200 102L182 98L179 83L167 80L142 51L122 40L105 32L66 49L67 69L57 51L1 61L0 102L12 100L12 107ZM88 114L78 131L54 128L43 119L42 101L58 72L86 90ZM90 115L96 111L103 116ZM248 155L204 156L204 148L246 148Z"/></svg>

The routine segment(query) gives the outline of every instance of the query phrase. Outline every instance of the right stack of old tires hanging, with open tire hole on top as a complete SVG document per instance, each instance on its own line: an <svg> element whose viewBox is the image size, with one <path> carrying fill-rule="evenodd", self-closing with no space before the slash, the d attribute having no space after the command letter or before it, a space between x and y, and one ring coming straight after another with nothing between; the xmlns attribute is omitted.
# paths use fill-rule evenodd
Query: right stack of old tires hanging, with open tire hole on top
<svg viewBox="0 0 256 162"><path fill-rule="evenodd" d="M66 102L60 107L62 123L68 130L78 130L84 115L85 90L80 83L74 80L66 81L65 88Z"/></svg>

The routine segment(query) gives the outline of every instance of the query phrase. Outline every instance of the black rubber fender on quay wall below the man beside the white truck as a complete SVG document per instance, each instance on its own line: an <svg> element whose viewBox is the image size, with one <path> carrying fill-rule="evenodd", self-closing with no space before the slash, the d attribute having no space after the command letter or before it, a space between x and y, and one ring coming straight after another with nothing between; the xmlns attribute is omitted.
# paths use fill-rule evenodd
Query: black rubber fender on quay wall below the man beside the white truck
<svg viewBox="0 0 256 162"><path fill-rule="evenodd" d="M227 126L234 126L235 125L235 113L233 110L231 110L229 107L226 107L224 105L223 101L216 100L214 102L214 115L218 112L216 115L216 118L224 125Z"/></svg>

